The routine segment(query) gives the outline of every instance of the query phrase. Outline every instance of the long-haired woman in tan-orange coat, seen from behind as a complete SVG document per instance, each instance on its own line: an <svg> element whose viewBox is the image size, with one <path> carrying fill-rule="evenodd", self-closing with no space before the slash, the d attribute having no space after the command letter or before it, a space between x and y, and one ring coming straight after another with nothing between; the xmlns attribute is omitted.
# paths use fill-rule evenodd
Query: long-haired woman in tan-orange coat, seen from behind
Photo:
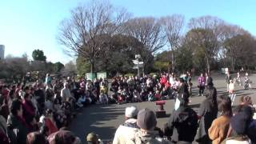
<svg viewBox="0 0 256 144"><path fill-rule="evenodd" d="M222 116L216 118L208 130L209 138L213 140L213 144L221 143L227 136L230 118L232 117L231 100L229 97L222 97L218 110L221 111Z"/></svg>

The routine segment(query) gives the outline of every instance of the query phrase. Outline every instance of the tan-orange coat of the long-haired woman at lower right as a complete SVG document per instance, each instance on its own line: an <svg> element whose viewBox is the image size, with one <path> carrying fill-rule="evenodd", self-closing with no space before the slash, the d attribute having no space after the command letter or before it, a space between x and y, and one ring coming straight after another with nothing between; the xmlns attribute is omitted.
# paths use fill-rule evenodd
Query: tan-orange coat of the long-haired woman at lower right
<svg viewBox="0 0 256 144"><path fill-rule="evenodd" d="M209 138L213 140L213 144L219 144L226 138L229 127L230 117L227 116L221 116L212 122L208 134Z"/></svg>

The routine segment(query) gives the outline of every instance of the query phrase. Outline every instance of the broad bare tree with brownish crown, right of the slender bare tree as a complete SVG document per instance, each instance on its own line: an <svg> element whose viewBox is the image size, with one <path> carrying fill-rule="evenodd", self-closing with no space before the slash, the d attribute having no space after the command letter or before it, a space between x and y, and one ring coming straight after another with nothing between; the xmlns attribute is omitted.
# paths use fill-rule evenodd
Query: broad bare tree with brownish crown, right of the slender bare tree
<svg viewBox="0 0 256 144"><path fill-rule="evenodd" d="M198 48L202 48L209 73L211 62L214 58L217 58L218 49L222 45L222 29L220 29L220 26L223 23L221 19L211 16L191 18L189 22L191 37Z"/></svg>

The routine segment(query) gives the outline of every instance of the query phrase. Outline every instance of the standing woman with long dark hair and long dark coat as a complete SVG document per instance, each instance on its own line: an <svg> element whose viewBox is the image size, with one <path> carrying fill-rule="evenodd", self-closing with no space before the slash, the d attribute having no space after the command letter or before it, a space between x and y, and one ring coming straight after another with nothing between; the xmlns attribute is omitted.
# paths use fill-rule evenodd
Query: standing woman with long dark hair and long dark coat
<svg viewBox="0 0 256 144"><path fill-rule="evenodd" d="M214 86L210 85L213 84L209 83L209 86L206 88L206 100L202 102L198 112L200 122L197 142L202 144L211 143L208 135L208 129L214 119L217 118L218 114L217 91Z"/></svg>

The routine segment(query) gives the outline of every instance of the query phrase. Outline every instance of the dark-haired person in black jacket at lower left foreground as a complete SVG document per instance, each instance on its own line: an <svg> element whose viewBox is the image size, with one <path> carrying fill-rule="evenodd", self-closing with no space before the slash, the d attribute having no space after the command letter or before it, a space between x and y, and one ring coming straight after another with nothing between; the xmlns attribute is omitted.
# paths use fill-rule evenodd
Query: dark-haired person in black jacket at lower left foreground
<svg viewBox="0 0 256 144"><path fill-rule="evenodd" d="M22 117L22 102L18 99L10 105L10 115L7 119L7 133L11 143L26 143L26 134L29 130L25 119Z"/></svg>

